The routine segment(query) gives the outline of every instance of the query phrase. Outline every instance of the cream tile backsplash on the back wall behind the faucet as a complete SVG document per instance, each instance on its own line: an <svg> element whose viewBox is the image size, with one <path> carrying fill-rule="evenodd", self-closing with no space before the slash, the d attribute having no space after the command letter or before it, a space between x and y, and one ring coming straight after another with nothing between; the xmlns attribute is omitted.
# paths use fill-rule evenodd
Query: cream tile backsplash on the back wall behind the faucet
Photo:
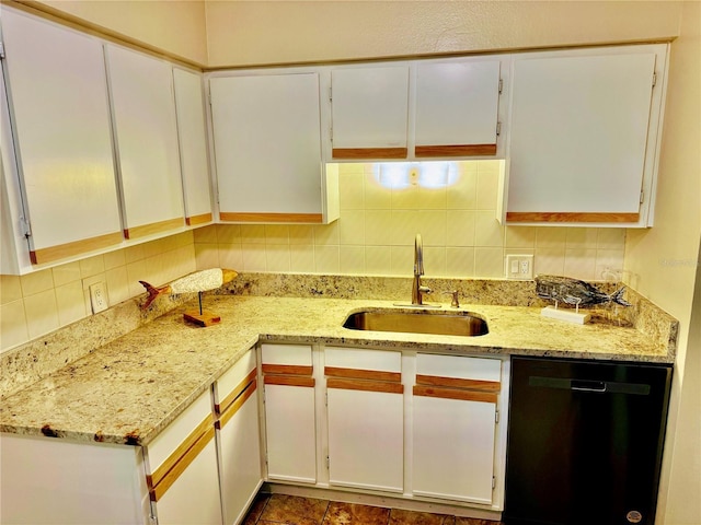
<svg viewBox="0 0 701 525"><path fill-rule="evenodd" d="M536 273L600 280L622 270L624 229L502 226L499 162L449 163L451 184L430 187L380 164L341 164L336 222L206 226L194 232L197 268L411 276L421 233L426 277L504 278L507 254L533 255Z"/></svg>

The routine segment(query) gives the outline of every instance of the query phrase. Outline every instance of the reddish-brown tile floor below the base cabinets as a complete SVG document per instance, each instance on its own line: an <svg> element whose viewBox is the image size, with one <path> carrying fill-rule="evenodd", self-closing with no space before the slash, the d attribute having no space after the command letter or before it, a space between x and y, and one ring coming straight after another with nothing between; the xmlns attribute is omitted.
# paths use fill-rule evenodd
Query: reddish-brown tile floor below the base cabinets
<svg viewBox="0 0 701 525"><path fill-rule="evenodd" d="M503 525L502 522L341 503L297 495L258 494L243 525Z"/></svg>

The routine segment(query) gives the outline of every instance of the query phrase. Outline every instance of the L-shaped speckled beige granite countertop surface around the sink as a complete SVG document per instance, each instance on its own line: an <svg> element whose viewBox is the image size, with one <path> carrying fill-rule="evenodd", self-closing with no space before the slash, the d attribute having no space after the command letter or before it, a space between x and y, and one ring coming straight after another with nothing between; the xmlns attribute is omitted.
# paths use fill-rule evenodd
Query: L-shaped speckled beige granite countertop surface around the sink
<svg viewBox="0 0 701 525"><path fill-rule="evenodd" d="M0 402L0 431L145 445L258 341L402 348L456 354L549 355L670 363L670 346L633 327L573 325L538 307L464 304L484 317L478 337L349 330L346 316L393 301L212 295L221 323L198 328L179 306ZM444 310L450 310L444 304ZM673 319L674 320L674 319Z"/></svg>

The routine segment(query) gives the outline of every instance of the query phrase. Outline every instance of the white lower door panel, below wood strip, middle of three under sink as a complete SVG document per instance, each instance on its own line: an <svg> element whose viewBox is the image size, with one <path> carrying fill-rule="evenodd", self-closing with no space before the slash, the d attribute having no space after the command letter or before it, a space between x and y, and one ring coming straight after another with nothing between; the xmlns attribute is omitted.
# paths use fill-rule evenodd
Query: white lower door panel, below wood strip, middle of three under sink
<svg viewBox="0 0 701 525"><path fill-rule="evenodd" d="M403 396L331 387L326 395L330 483L401 492Z"/></svg>

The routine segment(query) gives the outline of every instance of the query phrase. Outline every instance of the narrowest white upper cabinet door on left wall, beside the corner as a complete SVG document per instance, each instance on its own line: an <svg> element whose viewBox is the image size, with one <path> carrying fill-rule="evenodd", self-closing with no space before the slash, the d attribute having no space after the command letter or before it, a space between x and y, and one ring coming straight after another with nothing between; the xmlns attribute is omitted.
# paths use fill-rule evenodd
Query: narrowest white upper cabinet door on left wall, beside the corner
<svg viewBox="0 0 701 525"><path fill-rule="evenodd" d="M173 68L177 136L185 197L185 222L211 222L211 192L207 155L207 118L202 74Z"/></svg>

